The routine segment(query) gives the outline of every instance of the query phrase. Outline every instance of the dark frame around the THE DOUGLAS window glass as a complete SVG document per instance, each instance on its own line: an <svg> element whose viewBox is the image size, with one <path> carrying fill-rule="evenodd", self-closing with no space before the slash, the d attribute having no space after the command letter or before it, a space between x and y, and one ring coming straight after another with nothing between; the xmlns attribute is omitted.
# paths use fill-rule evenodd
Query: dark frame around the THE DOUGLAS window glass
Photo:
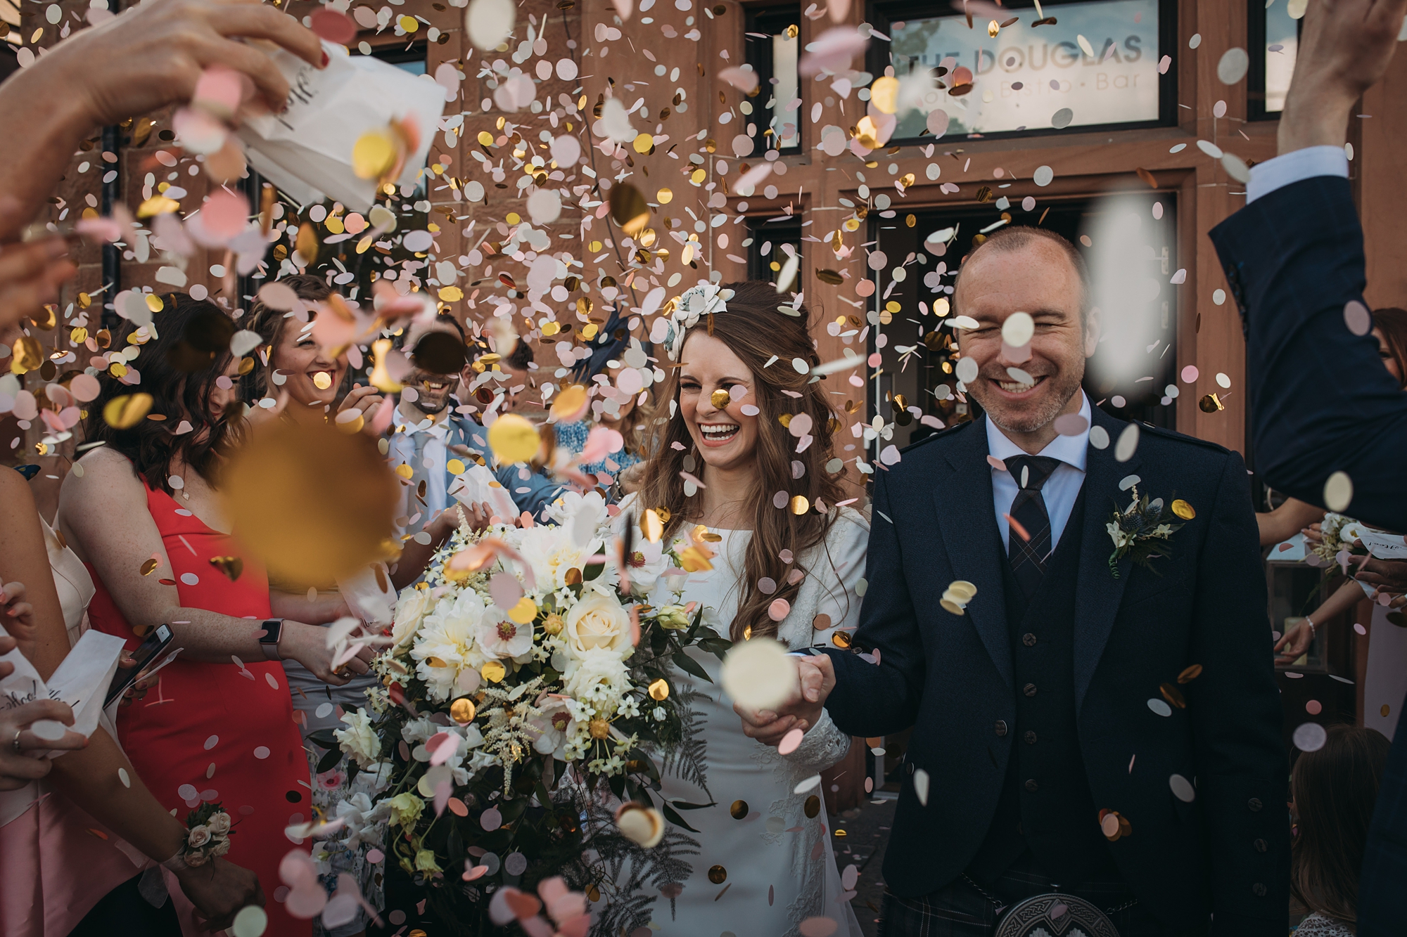
<svg viewBox="0 0 1407 937"><path fill-rule="evenodd" d="M1045 15L1059 15L1059 7L1072 3L1090 3L1092 0L1043 0L1041 7ZM1249 0L1255 3L1256 0ZM1263 0L1261 0L1263 3ZM1013 14L1024 14L1027 11L1036 11L1034 0L1007 0L1003 4L1010 8ZM870 24L879 32L889 35L889 25L895 21L908 20L927 20L934 15L950 15L950 10L943 6L934 6L931 0L870 0L865 4L865 17ZM955 13L953 15L957 15ZM979 28L976 23L976 14L974 14L972 28ZM875 39L870 44L870 49L865 52L865 69L870 75L879 77L884 75L885 68L889 65L889 42L884 39ZM1178 0L1158 0L1158 51L1157 56L1161 59L1164 55L1172 56L1172 62L1168 65L1168 70L1158 76L1158 118L1150 121L1127 121L1114 124L1089 124L1079 127L1069 127L1065 129L1055 129L1054 127L1036 127L1026 128L1020 131L993 131L991 134L964 134L961 136L944 136L944 139L1023 139L1027 136L1050 136L1052 134L1102 134L1109 131L1126 131L1126 129L1147 129L1151 127L1176 127L1178 125L1178 65L1180 52L1180 45L1178 42ZM893 138L886 146L919 146L924 144L931 144L934 136L931 134L924 134L922 136L905 136Z"/></svg>

